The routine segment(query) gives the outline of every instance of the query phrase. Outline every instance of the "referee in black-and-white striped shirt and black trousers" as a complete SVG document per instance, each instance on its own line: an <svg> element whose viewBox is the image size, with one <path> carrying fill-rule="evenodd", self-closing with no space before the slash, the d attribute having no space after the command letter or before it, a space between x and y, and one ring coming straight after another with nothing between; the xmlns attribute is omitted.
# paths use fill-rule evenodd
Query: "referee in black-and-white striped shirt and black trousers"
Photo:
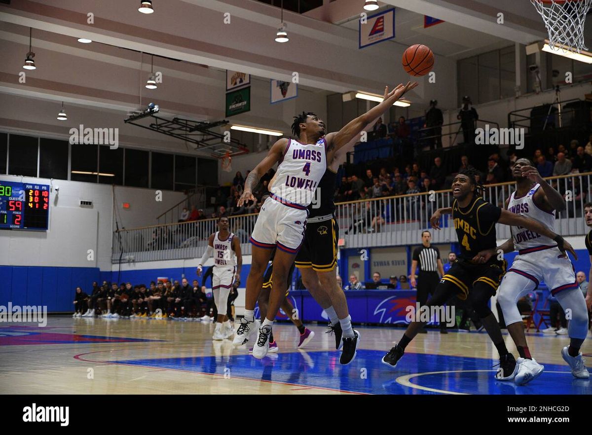
<svg viewBox="0 0 592 435"><path fill-rule="evenodd" d="M437 247L431 246L430 241L432 241L430 231L423 231L422 246L413 251L413 261L411 262L411 288L417 288L417 302L419 302L420 307L426 304L428 294L433 295L436 285L440 281L440 276L444 275L440 251ZM416 281L415 272L418 263L419 275ZM438 275L438 272L440 275ZM440 333L448 334L445 321L440 321Z"/></svg>

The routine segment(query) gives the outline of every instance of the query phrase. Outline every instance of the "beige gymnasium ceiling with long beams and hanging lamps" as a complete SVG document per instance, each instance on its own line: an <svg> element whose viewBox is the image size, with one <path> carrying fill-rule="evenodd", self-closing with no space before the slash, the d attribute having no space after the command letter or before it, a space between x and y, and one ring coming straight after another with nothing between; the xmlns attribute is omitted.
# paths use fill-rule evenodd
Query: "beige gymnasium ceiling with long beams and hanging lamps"
<svg viewBox="0 0 592 435"><path fill-rule="evenodd" d="M357 20L363 0L323 0L303 14L284 11L291 38L287 44L274 41L280 9L269 3L279 5L279 0L153 0L155 13L150 15L137 11L139 0L7 1L0 2L0 126L56 134L63 130L54 114L62 101L76 108L81 119L108 125L121 123L127 112L151 99L163 115L216 121L224 118L226 69L250 73L259 88L264 81L289 80L298 72L300 89L317 97L381 92L384 83L407 79L400 59L410 44L432 47L436 63L450 72L457 59L545 36L526 0L498 0L497 8L486 0L380 2L381 10L397 7L395 39L362 50ZM496 22L499 11L504 25ZM94 14L94 24L87 23L88 12ZM231 24L223 23L225 12ZM423 14L446 22L423 28ZM19 83L30 27L38 68L27 73L26 83ZM78 43L81 36L95 42ZM155 70L166 79L153 94L143 88L151 54ZM455 75L440 83L429 94L420 86L409 98L417 108L434 97L443 108L455 107ZM252 99L256 102L256 95ZM275 107L236 119L287 133L289 116L283 111L294 107ZM128 141L174 146L167 137L127 127Z"/></svg>

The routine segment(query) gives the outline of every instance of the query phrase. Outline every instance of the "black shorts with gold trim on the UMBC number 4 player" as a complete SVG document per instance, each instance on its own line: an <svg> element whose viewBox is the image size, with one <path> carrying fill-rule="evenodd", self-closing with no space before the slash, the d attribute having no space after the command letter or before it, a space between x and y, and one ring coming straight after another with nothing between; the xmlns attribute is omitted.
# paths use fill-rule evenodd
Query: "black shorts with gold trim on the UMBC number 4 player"
<svg viewBox="0 0 592 435"><path fill-rule="evenodd" d="M459 289L458 298L465 300L469 290L477 282L485 283L491 289L491 296L497 292L501 278L506 273L506 260L494 260L484 265L474 265L466 260L456 259L440 282L451 282Z"/></svg>

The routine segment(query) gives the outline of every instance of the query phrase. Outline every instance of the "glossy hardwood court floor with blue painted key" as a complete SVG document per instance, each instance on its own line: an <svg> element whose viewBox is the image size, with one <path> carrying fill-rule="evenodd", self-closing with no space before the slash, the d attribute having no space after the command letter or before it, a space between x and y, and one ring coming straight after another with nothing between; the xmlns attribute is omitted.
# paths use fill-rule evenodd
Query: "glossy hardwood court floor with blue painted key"
<svg viewBox="0 0 592 435"><path fill-rule="evenodd" d="M485 333L419 334L390 370L380 360L403 328L356 327L358 355L342 366L326 327L308 327L316 336L297 350L296 328L276 324L279 353L256 360L229 340L211 340L213 324L71 317L49 317L44 328L2 324L0 394L592 394L592 381L574 379L561 358L567 336L529 334L545 372L519 387L493 378L497 351ZM590 335L583 352L592 356Z"/></svg>

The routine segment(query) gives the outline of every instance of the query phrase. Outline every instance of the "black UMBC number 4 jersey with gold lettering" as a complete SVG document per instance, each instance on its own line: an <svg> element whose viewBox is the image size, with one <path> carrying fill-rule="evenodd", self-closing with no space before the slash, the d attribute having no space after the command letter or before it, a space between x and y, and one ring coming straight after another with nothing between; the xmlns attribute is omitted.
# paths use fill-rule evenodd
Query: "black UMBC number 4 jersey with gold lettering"
<svg viewBox="0 0 592 435"><path fill-rule="evenodd" d="M481 196L476 196L464 209L454 200L452 220L458 243L461 244L459 257L471 260L478 252L497 247L496 222L500 215L501 208L490 204Z"/></svg>

